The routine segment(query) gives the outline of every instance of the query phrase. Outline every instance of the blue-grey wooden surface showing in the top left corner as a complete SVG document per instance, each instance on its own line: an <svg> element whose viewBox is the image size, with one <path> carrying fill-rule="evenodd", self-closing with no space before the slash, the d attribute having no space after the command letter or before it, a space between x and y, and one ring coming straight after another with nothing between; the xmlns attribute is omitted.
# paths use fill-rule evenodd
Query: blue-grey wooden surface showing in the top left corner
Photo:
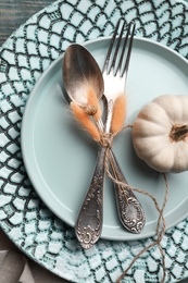
<svg viewBox="0 0 188 283"><path fill-rule="evenodd" d="M0 0L0 46L32 15L53 2L52 0Z"/></svg>

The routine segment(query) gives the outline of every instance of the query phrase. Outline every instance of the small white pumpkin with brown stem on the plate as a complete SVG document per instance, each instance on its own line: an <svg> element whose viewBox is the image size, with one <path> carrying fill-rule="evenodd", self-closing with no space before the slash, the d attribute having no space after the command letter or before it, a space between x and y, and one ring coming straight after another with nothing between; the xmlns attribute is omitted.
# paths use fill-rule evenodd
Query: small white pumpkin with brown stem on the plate
<svg viewBox="0 0 188 283"><path fill-rule="evenodd" d="M133 125L133 144L156 171L188 170L188 96L163 95L145 106Z"/></svg>

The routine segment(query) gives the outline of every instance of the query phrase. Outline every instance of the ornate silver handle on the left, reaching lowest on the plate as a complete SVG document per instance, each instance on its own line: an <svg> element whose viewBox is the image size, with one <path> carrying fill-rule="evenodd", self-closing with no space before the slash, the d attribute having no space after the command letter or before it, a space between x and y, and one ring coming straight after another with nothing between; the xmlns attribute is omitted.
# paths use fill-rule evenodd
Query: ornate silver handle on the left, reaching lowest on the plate
<svg viewBox="0 0 188 283"><path fill-rule="evenodd" d="M101 147L90 186L76 221L76 236L84 248L91 248L102 231L104 159L105 148Z"/></svg>

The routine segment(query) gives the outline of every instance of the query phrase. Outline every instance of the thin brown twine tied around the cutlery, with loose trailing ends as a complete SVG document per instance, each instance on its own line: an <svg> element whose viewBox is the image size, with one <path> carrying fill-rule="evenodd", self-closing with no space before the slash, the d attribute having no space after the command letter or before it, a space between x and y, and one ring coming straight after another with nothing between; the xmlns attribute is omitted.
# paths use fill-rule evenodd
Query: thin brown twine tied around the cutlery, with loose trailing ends
<svg viewBox="0 0 188 283"><path fill-rule="evenodd" d="M133 127L131 125L127 125L125 127L123 127L123 130L127 128L127 127ZM123 131L122 130L122 131ZM160 254L161 254L161 257L162 257L162 269L163 269L163 278L161 280L161 283L164 283L165 282L165 276L166 276L166 272L165 272L165 254L164 254L164 250L161 246L161 241L163 238L163 235L165 233L165 229L166 229L166 224L165 224L165 219L164 219L164 208L165 208L165 205L167 202L167 197L168 197L168 190L170 190L170 186L168 186L168 182L167 182L167 176L165 173L162 173L163 175L163 179L164 179L164 183L165 183L165 195L164 195L164 200L163 200L163 205L162 205L162 208L160 208L155 197L153 197L150 193L143 190L143 189L140 189L140 188L137 188L137 187L134 187L127 183L124 183L124 182L120 182L115 175L112 175L111 173L111 170L110 170L110 165L109 165L109 161L110 161L110 150L112 149L112 144L113 144L113 138L114 136L112 134L101 134L101 140L100 140L100 144L101 146L105 147L106 150L105 150L105 161L104 161L104 167L105 167L105 172L108 174L108 176L112 180L112 182L114 182L116 185L118 185L121 187L121 189L123 190L124 193L124 196L125 196L125 199L127 201L127 206L128 206L128 200L127 200L127 197L125 195L125 192L123 188L125 187L128 187L129 189L134 190L134 192L137 192L137 193L140 193L142 195L146 195L148 197L150 197L152 200L153 200L153 204L154 204L154 207L155 209L158 210L159 212L159 219L158 219L158 223L156 223L156 231L155 231L155 236L156 236L156 239L154 242L152 242L151 244L149 244L148 246L146 246L142 250L140 250L140 253L138 253L138 255L131 260L130 264L125 269L125 271L118 276L118 279L116 280L116 283L121 283L121 281L123 280L123 278L127 274L127 272L129 271L129 269L134 266L134 263L136 262L136 260L143 254L146 253L147 250L149 250L151 247L158 245L159 247L159 250L160 250Z"/></svg>

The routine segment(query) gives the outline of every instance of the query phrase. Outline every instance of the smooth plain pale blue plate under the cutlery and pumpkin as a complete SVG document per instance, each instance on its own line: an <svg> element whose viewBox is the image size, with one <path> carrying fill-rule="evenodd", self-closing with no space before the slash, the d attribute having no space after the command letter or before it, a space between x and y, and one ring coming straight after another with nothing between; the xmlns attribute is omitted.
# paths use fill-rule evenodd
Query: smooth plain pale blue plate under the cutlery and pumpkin
<svg viewBox="0 0 188 283"><path fill-rule="evenodd" d="M85 44L102 66L109 38ZM22 151L29 179L47 206L74 226L90 183L98 145L73 120L63 97L62 58L41 75L27 101L22 122ZM149 39L135 38L127 82L127 120L133 123L138 111L163 94L188 94L188 63L177 52ZM165 183L162 174L140 161L131 146L131 131L114 140L114 152L128 183L152 194L162 206ZM188 172L167 174L170 196L164 211L167 227L188 216ZM153 202L137 194L146 211L147 223L140 234L121 225L114 189L108 176L104 187L102 237L139 239L155 234L158 213Z"/></svg>

